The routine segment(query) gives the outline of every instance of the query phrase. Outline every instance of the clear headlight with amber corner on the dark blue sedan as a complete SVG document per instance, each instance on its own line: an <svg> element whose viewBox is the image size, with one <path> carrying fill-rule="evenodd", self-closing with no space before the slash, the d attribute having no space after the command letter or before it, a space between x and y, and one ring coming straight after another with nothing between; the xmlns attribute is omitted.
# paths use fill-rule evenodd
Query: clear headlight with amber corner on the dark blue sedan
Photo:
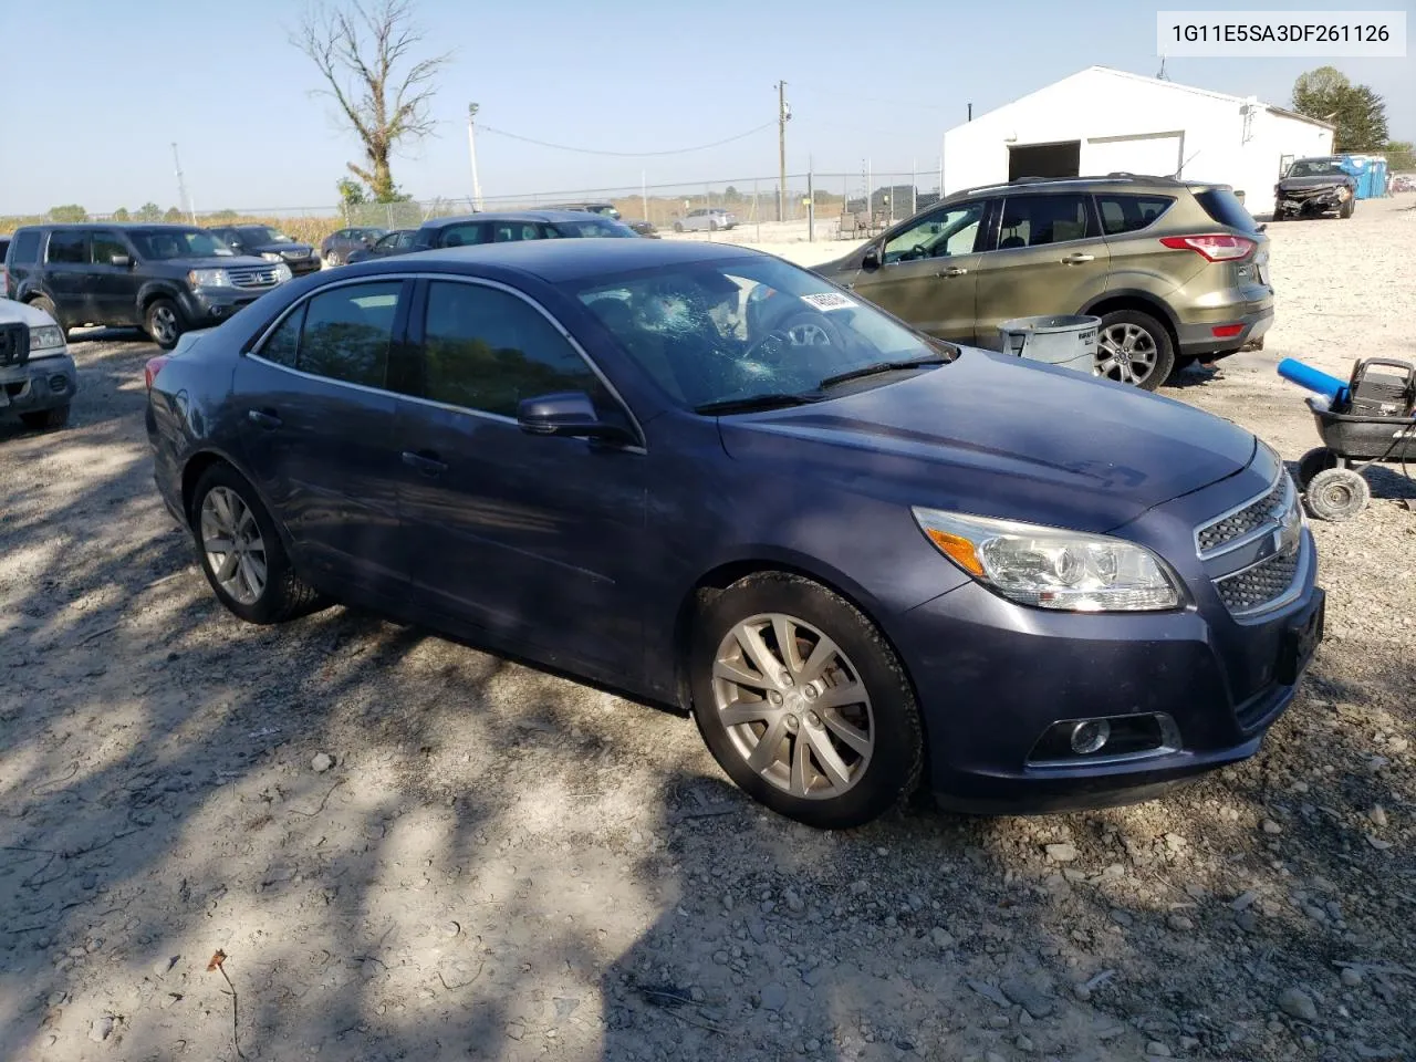
<svg viewBox="0 0 1416 1062"><path fill-rule="evenodd" d="M930 542L994 592L1039 609L1153 612L1180 605L1155 554L1107 535L915 508Z"/></svg>

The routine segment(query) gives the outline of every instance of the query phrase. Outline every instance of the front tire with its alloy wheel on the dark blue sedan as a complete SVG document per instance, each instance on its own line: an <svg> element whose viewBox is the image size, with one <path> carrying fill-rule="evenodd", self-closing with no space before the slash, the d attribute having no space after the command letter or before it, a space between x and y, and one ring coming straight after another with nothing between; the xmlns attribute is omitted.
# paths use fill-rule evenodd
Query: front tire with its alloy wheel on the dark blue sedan
<svg viewBox="0 0 1416 1062"><path fill-rule="evenodd" d="M777 649L779 630L794 634L794 663L787 664ZM803 670L823 640L830 641L831 656L804 685ZM793 675L763 677L750 666L753 651L767 670L775 661ZM773 811L817 828L845 830L906 803L919 786L923 738L905 670L875 624L820 583L763 572L707 599L688 668L694 719L708 750L743 792ZM847 687L861 697L827 701L830 691ZM739 721L728 722L731 715ZM770 759L749 762L772 733Z"/></svg>

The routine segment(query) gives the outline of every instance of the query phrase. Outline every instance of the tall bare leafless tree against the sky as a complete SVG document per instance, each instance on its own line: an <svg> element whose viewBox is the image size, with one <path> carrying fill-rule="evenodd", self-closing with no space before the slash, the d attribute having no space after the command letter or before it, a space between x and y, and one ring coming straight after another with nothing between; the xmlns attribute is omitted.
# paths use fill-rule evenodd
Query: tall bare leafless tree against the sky
<svg viewBox="0 0 1416 1062"><path fill-rule="evenodd" d="M452 54L415 61L422 40L411 0L348 0L346 10L317 3L290 35L329 82L320 95L338 105L341 120L362 140L364 166L350 163L350 173L379 202L398 198L389 156L433 132L433 82Z"/></svg>

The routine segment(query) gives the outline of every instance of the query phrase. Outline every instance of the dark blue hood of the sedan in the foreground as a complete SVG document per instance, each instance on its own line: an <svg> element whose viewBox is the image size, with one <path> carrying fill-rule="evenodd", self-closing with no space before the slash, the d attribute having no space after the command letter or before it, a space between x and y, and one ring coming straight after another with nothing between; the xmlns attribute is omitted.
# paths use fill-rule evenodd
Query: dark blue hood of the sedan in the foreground
<svg viewBox="0 0 1416 1062"><path fill-rule="evenodd" d="M899 504L1104 532L1240 472L1253 435L1123 384L964 348L838 399L719 418L729 456Z"/></svg>

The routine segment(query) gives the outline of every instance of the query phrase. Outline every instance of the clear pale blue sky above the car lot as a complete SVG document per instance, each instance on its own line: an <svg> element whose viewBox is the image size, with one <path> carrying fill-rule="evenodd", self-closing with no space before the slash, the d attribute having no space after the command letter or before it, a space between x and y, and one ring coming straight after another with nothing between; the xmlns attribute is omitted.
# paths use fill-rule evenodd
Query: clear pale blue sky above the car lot
<svg viewBox="0 0 1416 1062"><path fill-rule="evenodd" d="M416 198L469 194L469 101L490 129L654 152L775 122L773 85L784 79L789 170L804 173L810 156L818 173L860 173L869 159L881 176L908 173L912 160L933 171L944 129L969 102L978 115L1092 64L1146 75L1160 65L1157 6L1124 0L415 1L428 50L456 52L435 102L439 136L395 160ZM1284 7L1410 11L1412 0ZM358 144L333 123L331 105L310 96L317 75L287 42L299 13L299 0L0 0L0 215L62 202L93 212L173 205L174 140L198 210L333 204ZM1167 72L1286 105L1293 79L1323 62L1171 59ZM1332 64L1386 98L1393 137L1416 139L1416 59ZM777 169L775 127L643 160L535 147L490 129L477 137L489 197L637 187L641 170L666 184Z"/></svg>

